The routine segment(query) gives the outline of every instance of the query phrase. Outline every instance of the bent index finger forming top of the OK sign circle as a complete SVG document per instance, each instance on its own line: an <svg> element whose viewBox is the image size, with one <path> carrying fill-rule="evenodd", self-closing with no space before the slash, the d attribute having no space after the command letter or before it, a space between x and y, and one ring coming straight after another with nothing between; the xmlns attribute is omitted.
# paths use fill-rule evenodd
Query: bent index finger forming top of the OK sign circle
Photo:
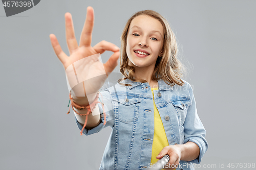
<svg viewBox="0 0 256 170"><path fill-rule="evenodd" d="M104 53L105 51L118 52L120 50L115 44L104 40L94 45L93 48L97 53L100 54Z"/></svg>

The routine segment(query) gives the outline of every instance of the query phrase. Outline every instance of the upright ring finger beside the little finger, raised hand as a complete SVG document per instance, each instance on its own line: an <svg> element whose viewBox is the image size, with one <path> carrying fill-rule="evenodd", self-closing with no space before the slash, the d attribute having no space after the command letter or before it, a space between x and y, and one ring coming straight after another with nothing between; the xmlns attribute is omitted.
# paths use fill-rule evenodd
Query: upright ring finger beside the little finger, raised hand
<svg viewBox="0 0 256 170"><path fill-rule="evenodd" d="M69 48L69 54L71 55L72 52L78 47L78 44L75 37L72 15L69 12L65 14L65 23L66 23L66 39L67 39L67 44Z"/></svg>

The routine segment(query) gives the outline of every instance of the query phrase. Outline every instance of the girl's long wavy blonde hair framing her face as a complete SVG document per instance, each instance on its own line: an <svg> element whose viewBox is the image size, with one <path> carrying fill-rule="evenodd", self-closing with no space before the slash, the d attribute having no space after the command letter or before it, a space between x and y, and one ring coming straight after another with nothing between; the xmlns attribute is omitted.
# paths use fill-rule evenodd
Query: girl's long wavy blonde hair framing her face
<svg viewBox="0 0 256 170"><path fill-rule="evenodd" d="M177 58L178 46L176 42L175 35L172 29L169 26L168 21L159 13L153 10L142 10L136 12L126 23L122 35L121 35L121 58L120 58L120 72L125 78L121 78L118 80L118 83L125 86L131 86L131 84L123 84L120 83L122 80L129 79L135 82L145 83L146 80L134 78L135 68L133 66L128 65L129 58L126 53L126 45L127 45L127 31L132 20L139 15L147 15L151 16L157 20L159 20L163 26L164 30L164 39L163 39L163 55L162 57L157 58L154 72L152 74L152 80L164 80L168 85L178 84L182 86L184 82L181 80L183 76L182 72L185 71L185 67ZM129 71L129 75L126 74L125 71Z"/></svg>

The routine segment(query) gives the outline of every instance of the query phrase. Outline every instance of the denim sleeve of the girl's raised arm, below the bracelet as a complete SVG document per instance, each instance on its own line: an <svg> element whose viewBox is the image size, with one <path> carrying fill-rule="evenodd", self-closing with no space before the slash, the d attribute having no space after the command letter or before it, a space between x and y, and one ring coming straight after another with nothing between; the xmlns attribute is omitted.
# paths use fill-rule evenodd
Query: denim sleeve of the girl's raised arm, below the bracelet
<svg viewBox="0 0 256 170"><path fill-rule="evenodd" d="M101 95L102 94L102 97ZM110 92L108 89L105 89L105 90L101 90L100 91L100 94L99 94L99 98L98 98L98 102L101 102L102 101L102 98L103 98L103 103L104 103L104 110L105 110L105 113L106 113L106 124L103 125L104 123L104 115L103 115L103 109L102 109L102 105L101 103L98 103L98 107L99 107L99 111L100 111L100 124L96 127L94 127L93 129L86 129L84 128L82 133L84 135L91 135L91 134L94 134L94 133L98 133L99 131L101 131L103 128L105 127L108 127L110 126L111 128L114 127L114 111L112 109L112 101L111 101L111 98L110 98ZM75 120L76 120L76 124L78 126L78 128L80 130L82 130L82 125L78 122L78 120L76 119L75 117Z"/></svg>

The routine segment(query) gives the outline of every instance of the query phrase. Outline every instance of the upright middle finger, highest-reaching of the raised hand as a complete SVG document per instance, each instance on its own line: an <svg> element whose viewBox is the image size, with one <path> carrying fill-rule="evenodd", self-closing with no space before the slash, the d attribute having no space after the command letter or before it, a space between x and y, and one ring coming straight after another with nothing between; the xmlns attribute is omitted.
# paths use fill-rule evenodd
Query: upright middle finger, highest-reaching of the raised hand
<svg viewBox="0 0 256 170"><path fill-rule="evenodd" d="M87 7L86 21L84 22L80 36L79 46L90 46L92 42L92 32L94 25L94 11L92 7Z"/></svg>

